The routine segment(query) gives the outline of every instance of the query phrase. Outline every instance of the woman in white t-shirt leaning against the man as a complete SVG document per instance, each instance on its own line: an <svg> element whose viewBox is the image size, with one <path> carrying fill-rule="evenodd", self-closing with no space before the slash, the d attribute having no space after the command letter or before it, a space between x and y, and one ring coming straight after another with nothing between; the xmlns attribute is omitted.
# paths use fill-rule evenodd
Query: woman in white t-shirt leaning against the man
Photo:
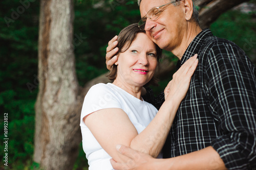
<svg viewBox="0 0 256 170"><path fill-rule="evenodd" d="M117 144L158 157L198 63L191 57L176 72L158 111L143 100L141 91L154 82L160 48L137 24L124 28L118 42L118 60L109 75L113 83L94 85L82 107L82 145L90 170L113 169L111 158L122 162Z"/></svg>

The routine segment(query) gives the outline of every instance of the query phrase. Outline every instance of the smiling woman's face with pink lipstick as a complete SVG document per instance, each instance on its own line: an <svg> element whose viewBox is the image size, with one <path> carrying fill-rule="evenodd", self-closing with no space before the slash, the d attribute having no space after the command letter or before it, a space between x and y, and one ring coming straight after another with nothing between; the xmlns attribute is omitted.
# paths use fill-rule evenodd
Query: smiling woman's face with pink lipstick
<svg viewBox="0 0 256 170"><path fill-rule="evenodd" d="M156 45L144 33L138 33L131 46L118 56L117 78L140 87L149 82L157 67Z"/></svg>

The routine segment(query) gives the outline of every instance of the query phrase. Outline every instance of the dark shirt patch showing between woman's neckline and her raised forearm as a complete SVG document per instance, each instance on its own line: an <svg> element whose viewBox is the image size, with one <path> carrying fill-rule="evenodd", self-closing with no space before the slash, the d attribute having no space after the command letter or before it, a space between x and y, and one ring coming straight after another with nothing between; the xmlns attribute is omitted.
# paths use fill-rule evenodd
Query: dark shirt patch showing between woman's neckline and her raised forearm
<svg viewBox="0 0 256 170"><path fill-rule="evenodd" d="M157 110L160 109L164 102L164 92L162 91L158 96L154 96L153 90L150 87L145 87L146 94L142 96L143 100L154 105Z"/></svg>

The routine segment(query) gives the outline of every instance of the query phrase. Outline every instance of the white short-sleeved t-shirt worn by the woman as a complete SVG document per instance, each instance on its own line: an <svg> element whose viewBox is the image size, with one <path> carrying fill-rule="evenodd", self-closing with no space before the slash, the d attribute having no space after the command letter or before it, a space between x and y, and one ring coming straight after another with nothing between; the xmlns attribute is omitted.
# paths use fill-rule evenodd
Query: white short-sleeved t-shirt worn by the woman
<svg viewBox="0 0 256 170"><path fill-rule="evenodd" d="M113 169L110 163L111 156L102 149L82 120L84 116L106 108L122 109L129 116L138 133L150 124L158 112L152 104L135 98L112 83L92 86L84 98L80 119L82 147L88 159L89 170Z"/></svg>

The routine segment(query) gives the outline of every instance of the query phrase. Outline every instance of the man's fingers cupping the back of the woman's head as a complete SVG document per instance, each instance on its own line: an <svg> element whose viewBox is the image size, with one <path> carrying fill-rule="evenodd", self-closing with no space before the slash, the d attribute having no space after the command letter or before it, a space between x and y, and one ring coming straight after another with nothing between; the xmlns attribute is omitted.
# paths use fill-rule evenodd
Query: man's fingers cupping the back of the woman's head
<svg viewBox="0 0 256 170"><path fill-rule="evenodd" d="M106 68L108 68L109 70L112 68L112 65L114 65L117 61L117 56L115 56L115 54L118 52L118 47L116 47L118 44L117 38L117 35L112 38L112 40L109 41L109 46L106 47Z"/></svg>

